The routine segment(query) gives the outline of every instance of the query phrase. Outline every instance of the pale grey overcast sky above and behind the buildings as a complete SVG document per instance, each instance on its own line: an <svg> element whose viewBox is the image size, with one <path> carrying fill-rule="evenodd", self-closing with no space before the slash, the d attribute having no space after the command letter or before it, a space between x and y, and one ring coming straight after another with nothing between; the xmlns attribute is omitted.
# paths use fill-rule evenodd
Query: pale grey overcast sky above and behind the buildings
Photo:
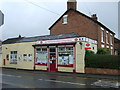
<svg viewBox="0 0 120 90"><path fill-rule="evenodd" d="M118 36L117 0L88 1L77 0L77 10L88 16L97 14L98 21ZM0 27L2 40L19 34L48 35L48 28L67 10L67 0L0 0L0 10L5 15L4 25Z"/></svg>

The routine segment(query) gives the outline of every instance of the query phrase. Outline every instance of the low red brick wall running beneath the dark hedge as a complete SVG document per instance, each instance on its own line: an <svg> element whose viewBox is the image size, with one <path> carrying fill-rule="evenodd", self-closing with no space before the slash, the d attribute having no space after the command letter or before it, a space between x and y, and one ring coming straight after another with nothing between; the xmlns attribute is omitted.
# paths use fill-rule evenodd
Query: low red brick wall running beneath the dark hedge
<svg viewBox="0 0 120 90"><path fill-rule="evenodd" d="M100 69L100 68L85 68L85 73L120 75L120 70L116 70L116 69Z"/></svg>

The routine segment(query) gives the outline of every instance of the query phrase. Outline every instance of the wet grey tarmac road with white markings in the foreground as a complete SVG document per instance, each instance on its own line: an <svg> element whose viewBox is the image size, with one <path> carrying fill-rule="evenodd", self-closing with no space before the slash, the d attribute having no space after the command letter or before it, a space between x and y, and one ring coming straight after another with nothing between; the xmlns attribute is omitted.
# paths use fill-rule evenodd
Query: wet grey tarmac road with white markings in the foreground
<svg viewBox="0 0 120 90"><path fill-rule="evenodd" d="M120 82L74 74L3 69L2 88L118 88Z"/></svg>

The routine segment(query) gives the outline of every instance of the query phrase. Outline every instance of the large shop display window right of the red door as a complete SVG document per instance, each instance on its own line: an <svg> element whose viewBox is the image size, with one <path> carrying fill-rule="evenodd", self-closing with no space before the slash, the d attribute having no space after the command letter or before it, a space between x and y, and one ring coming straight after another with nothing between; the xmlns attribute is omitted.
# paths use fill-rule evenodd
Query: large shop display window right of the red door
<svg viewBox="0 0 120 90"><path fill-rule="evenodd" d="M58 65L73 65L73 46L58 47Z"/></svg>

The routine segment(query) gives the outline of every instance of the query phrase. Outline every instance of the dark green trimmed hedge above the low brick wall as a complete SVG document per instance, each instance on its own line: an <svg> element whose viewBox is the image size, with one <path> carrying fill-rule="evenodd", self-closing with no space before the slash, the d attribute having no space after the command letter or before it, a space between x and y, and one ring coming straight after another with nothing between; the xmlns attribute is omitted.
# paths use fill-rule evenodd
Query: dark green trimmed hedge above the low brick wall
<svg viewBox="0 0 120 90"><path fill-rule="evenodd" d="M120 70L120 56L98 54L85 55L85 67Z"/></svg>

